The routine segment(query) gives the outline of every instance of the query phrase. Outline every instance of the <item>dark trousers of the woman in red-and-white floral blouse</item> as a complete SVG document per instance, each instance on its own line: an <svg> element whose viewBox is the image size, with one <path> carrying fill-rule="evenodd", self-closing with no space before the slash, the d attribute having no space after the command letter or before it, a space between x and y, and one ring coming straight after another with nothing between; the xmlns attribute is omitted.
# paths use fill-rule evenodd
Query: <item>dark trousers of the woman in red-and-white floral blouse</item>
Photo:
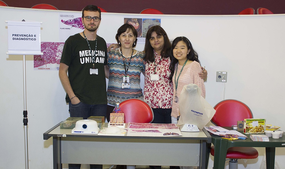
<svg viewBox="0 0 285 169"><path fill-rule="evenodd" d="M154 119L152 123L171 123L172 108L152 108Z"/></svg>

